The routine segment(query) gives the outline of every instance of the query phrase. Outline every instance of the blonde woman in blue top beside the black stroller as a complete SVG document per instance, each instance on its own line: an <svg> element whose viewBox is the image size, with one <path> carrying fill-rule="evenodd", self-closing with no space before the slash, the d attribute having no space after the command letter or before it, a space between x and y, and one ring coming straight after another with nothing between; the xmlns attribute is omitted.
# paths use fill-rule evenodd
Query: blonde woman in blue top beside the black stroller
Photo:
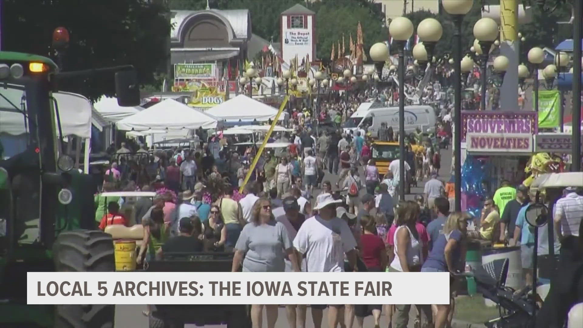
<svg viewBox="0 0 583 328"><path fill-rule="evenodd" d="M458 271L465 260L465 241L468 229L468 217L462 212L449 215L443 233L433 242L433 249L423 263L422 272ZM463 265L463 264L462 264ZM453 282L453 281L451 281ZM435 328L444 328L448 324L449 313L454 310L454 300L449 304L436 304Z"/></svg>

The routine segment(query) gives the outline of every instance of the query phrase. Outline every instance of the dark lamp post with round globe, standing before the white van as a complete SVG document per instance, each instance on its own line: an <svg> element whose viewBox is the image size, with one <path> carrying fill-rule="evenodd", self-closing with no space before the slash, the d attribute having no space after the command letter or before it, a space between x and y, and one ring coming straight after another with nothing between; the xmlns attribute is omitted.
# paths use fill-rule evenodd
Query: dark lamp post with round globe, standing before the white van
<svg viewBox="0 0 583 328"><path fill-rule="evenodd" d="M396 41L397 50L399 52L399 199L405 200L405 184L407 183L405 179L405 45L407 40L413 35L413 23L408 18L397 17L392 20L389 25L389 34ZM382 59L383 65L380 65L381 69L378 69L377 74L379 77L382 76L382 66L384 66L384 61L388 58L388 48L384 44L385 52L383 53L384 58L373 56L371 53L371 58L375 62L380 62Z"/></svg>

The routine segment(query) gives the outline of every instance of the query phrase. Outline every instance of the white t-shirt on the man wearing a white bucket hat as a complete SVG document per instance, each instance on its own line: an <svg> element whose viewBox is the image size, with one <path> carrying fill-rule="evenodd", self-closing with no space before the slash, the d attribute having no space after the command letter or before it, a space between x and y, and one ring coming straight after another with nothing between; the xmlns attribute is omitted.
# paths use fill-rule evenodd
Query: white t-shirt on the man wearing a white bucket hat
<svg viewBox="0 0 583 328"><path fill-rule="evenodd" d="M301 225L293 246L305 254L306 271L343 272L344 254L356 247L356 239L343 219L315 216Z"/></svg>

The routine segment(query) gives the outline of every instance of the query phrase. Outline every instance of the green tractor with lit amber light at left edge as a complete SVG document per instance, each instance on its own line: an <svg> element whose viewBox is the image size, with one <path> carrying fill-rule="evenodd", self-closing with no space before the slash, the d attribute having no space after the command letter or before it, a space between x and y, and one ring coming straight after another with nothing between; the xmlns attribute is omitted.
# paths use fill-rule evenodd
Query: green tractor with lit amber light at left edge
<svg viewBox="0 0 583 328"><path fill-rule="evenodd" d="M49 58L0 51L0 327L113 327L114 305L27 305L27 272L115 271L94 219L93 180L64 153L62 79L114 73L120 106L138 106L131 66L59 72ZM4 141L4 142L2 142Z"/></svg>

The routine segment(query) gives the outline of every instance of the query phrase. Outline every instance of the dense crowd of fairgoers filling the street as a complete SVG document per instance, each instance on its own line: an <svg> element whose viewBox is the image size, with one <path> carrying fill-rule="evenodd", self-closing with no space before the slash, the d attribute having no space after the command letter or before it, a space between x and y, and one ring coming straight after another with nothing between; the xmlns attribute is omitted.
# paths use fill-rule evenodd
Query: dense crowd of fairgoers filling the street
<svg viewBox="0 0 583 328"><path fill-rule="evenodd" d="M372 143L398 141L398 131L388 124L376 135L366 130L344 133L338 128L361 100L353 96L340 100L339 106L321 104L324 114L319 118L331 121L329 128L316 129L309 110L291 111L290 131L278 132L269 140L289 146L265 149L253 169L258 149L232 146L248 141L248 136L200 133L200 144L154 152L145 146L130 151L122 143L117 151L110 151L112 163L99 177L101 191L154 191L156 197L106 200L98 193L95 218L99 228L143 225L138 263L174 252L229 252L234 254L232 270L247 272L454 273L465 269L470 239L510 240L532 254L532 232L523 210L529 202L526 187L514 189L503 182L492 197L484 199L480 217L451 211L455 186L453 180L443 181L439 175L440 152L448 148L451 138L447 106L439 113L436 132L418 129L407 135L406 157L392 160L381 176ZM216 154L211 142L218 142ZM405 182L399 181L401 160ZM415 200L399 200L396 191L401 183L424 183L423 193L415 195ZM238 191L241 187L243 193ZM580 201L571 193L566 197L564 202ZM568 214L574 211L571 203L558 207L562 210L555 216L555 220L561 218L556 221L557 231L568 231L561 225L574 217ZM522 264L528 281L532 277L528 256L523 256ZM453 301L416 305L416 325L447 327L453 305ZM305 326L307 307L286 306L290 327ZM368 315L379 327L384 312L395 327L405 328L412 306L310 305L315 327L321 327L326 308L329 327L355 323L362 327ZM277 306L252 305L254 327L260 326L264 312L268 327L275 327Z"/></svg>

